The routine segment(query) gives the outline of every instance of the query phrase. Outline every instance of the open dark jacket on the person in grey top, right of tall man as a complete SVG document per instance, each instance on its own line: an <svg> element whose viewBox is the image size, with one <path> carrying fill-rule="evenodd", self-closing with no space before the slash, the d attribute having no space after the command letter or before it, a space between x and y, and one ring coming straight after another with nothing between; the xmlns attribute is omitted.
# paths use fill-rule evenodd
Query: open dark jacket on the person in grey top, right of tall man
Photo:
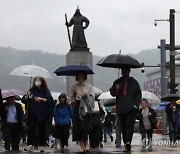
<svg viewBox="0 0 180 154"><path fill-rule="evenodd" d="M151 108L149 108L149 112L151 112L151 116L149 116L149 120L151 123L151 129L156 129L156 124L157 124L157 119L156 119L156 112ZM144 133L145 132L145 128L144 128L144 123L143 123L143 116L142 116L142 109L139 110L139 130L140 133Z"/></svg>

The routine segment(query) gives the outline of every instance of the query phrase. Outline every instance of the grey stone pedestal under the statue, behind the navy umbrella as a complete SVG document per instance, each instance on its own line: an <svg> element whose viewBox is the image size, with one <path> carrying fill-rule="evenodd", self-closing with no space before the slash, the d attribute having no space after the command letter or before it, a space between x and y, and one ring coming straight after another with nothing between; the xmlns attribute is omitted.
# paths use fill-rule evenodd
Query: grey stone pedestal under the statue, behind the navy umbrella
<svg viewBox="0 0 180 154"><path fill-rule="evenodd" d="M66 65L87 65L93 70L93 54L89 51L69 51L66 55ZM75 77L66 77L66 91L68 95L75 83ZM93 85L93 75L88 75L87 83Z"/></svg>

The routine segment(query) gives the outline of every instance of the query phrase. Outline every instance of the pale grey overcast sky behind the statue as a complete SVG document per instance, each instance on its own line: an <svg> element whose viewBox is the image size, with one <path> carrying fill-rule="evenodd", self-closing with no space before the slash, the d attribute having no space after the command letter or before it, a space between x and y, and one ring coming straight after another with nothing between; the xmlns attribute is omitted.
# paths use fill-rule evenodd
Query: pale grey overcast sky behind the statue
<svg viewBox="0 0 180 154"><path fill-rule="evenodd" d="M66 54L69 50L64 13L70 19L77 5L90 20L85 30L96 55L138 53L169 42L169 23L154 19L176 13L176 44L180 45L180 0L0 0L0 46ZM72 32L72 28L70 29Z"/></svg>

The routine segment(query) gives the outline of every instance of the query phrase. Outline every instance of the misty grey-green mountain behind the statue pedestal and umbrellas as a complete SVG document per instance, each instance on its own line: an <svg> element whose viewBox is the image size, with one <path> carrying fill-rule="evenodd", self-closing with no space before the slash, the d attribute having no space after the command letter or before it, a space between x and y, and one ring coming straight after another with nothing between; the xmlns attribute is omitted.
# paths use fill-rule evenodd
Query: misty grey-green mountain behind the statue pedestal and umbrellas
<svg viewBox="0 0 180 154"><path fill-rule="evenodd" d="M109 53L111 54L111 53ZM118 69L102 68L97 66L97 62L102 58L93 53L94 86L103 91L108 91L113 81L118 78ZM150 49L138 54L131 54L140 63L145 65L157 65L160 63L160 51ZM24 92L29 89L30 78L11 76L9 73L20 65L38 65L47 69L53 76L48 79L48 86L51 91L66 92L66 78L57 77L53 72L59 67L66 65L65 55L51 54L41 50L17 50L10 47L0 47L0 88L18 88ZM140 69L132 69L131 76L134 76L143 89L146 80L145 74L154 68L145 68L145 73Z"/></svg>

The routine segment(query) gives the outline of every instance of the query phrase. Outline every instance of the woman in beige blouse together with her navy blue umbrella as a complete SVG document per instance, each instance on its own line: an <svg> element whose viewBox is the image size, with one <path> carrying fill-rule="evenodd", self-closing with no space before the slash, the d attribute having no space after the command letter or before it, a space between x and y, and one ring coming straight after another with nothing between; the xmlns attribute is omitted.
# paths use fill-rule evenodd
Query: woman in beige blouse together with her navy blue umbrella
<svg viewBox="0 0 180 154"><path fill-rule="evenodd" d="M87 75L94 72L86 65L61 66L55 72L57 76L76 76L77 83L70 90L73 103L73 141L78 141L81 152L89 151L88 134L91 128L91 118L87 111L94 109L94 88L86 83Z"/></svg>

